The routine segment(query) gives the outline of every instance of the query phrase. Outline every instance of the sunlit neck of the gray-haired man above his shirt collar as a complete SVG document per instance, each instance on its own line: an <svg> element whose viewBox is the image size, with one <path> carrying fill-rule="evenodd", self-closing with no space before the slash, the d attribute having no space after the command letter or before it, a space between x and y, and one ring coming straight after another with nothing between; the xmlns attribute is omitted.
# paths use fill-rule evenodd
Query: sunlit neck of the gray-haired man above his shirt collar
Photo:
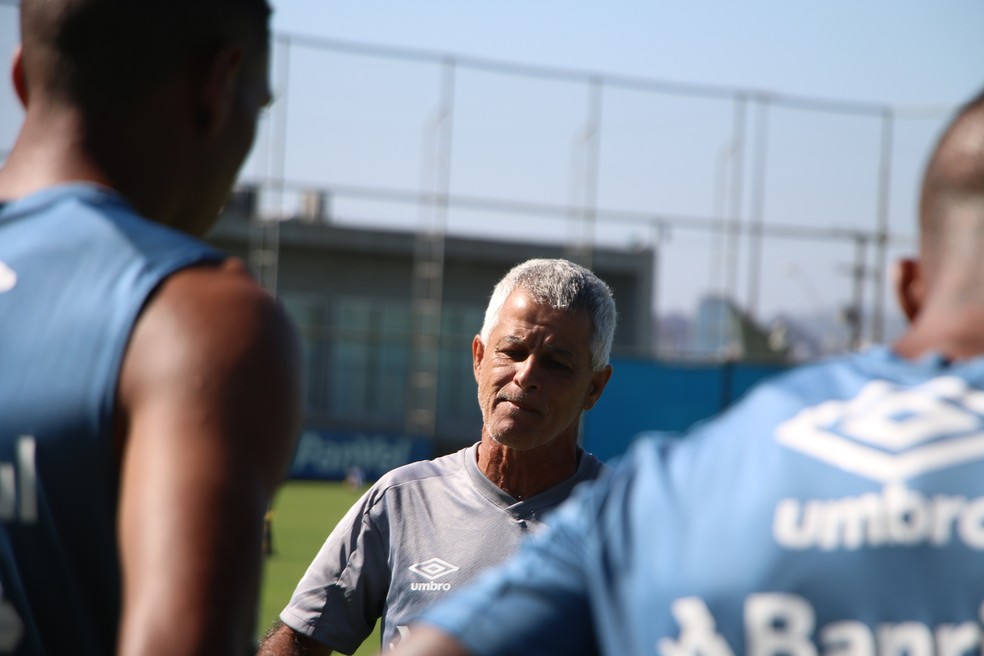
<svg viewBox="0 0 984 656"><path fill-rule="evenodd" d="M484 431L478 446L478 468L500 489L522 501L557 485L577 471L575 440L557 437L529 450L496 442Z"/></svg>

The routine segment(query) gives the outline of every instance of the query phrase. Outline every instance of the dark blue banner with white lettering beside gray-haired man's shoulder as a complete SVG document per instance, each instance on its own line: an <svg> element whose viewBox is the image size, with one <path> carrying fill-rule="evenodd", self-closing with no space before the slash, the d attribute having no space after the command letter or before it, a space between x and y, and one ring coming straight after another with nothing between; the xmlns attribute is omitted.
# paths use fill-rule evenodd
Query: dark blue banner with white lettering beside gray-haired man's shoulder
<svg viewBox="0 0 984 656"><path fill-rule="evenodd" d="M306 430L297 445L290 477L340 481L357 471L375 480L391 469L432 457L432 444L419 437Z"/></svg>

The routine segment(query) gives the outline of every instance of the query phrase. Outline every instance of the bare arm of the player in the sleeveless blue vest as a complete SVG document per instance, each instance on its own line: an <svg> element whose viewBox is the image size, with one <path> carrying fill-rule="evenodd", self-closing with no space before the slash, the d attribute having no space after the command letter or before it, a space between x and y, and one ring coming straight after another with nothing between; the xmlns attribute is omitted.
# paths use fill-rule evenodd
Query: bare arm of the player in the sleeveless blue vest
<svg viewBox="0 0 984 656"><path fill-rule="evenodd" d="M299 370L293 328L238 262L181 271L148 304L118 388L121 654L251 650Z"/></svg>

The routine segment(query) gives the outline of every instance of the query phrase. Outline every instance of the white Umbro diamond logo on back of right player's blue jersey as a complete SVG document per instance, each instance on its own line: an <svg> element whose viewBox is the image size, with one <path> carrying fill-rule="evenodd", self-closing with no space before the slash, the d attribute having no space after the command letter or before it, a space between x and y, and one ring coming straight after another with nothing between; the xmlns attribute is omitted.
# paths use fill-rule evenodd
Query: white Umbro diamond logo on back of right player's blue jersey
<svg viewBox="0 0 984 656"><path fill-rule="evenodd" d="M984 392L953 376L916 387L868 383L853 399L802 410L782 444L883 483L984 459Z"/></svg>

